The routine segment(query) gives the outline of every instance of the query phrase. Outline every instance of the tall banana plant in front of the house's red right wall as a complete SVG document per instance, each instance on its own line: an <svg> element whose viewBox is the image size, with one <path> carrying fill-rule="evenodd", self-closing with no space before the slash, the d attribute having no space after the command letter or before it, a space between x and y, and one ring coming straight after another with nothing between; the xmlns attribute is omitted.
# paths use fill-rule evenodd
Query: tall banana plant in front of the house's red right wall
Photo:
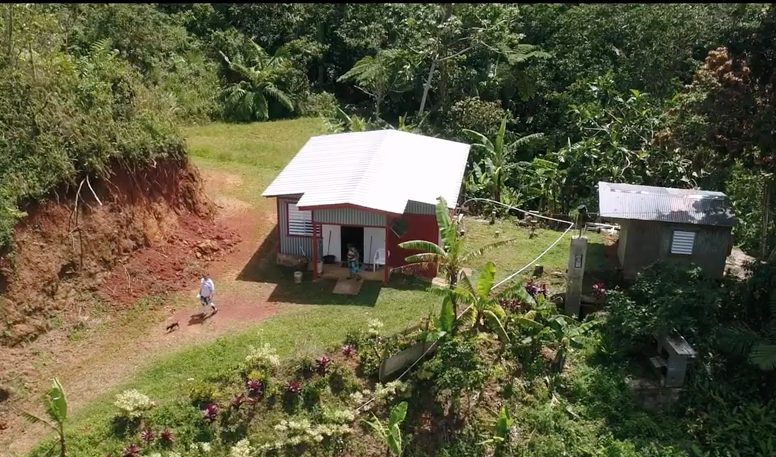
<svg viewBox="0 0 776 457"><path fill-rule="evenodd" d="M490 249L503 246L513 240L503 240L490 243L479 249L464 250L464 243L458 231L458 224L453 222L447 209L447 201L443 197L437 199L436 219L439 226L441 245L426 240L412 240L399 243L402 249L422 251L408 256L406 268L437 268L447 280L448 289L454 291L462 277L463 266ZM402 267L400 267L402 268ZM453 311L458 316L457 295L451 296Z"/></svg>

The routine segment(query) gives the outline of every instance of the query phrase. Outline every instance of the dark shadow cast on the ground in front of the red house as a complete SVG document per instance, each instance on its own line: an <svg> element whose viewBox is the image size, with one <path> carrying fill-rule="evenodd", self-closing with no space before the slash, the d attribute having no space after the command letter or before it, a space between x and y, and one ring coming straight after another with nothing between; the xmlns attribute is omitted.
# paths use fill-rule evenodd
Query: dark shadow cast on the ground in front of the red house
<svg viewBox="0 0 776 457"><path fill-rule="evenodd" d="M267 301L300 305L375 306L384 287L399 290L425 290L428 284L405 275L393 275L387 285L379 281L364 281L358 295L332 293L335 280L312 281L312 272L305 271L301 284L294 283L294 269L275 263L278 252L278 227L264 238L261 246L237 275L238 281L264 282L276 287Z"/></svg>

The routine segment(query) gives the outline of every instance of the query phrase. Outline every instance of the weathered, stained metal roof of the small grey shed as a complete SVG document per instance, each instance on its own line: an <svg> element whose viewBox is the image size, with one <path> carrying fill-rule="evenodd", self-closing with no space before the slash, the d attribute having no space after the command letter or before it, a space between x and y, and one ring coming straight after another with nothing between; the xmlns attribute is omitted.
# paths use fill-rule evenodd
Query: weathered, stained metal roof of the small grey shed
<svg viewBox="0 0 776 457"><path fill-rule="evenodd" d="M722 192L598 183L602 218L730 227L735 216Z"/></svg>

